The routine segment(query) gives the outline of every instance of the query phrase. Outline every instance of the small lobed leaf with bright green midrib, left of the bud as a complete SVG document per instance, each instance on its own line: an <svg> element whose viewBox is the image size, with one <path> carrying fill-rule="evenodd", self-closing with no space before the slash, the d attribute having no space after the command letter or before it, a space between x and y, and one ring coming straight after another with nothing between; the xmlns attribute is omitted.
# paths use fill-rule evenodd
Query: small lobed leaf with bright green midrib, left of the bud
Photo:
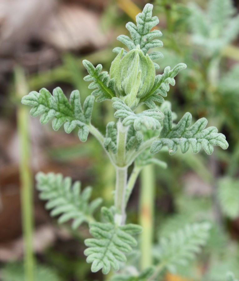
<svg viewBox="0 0 239 281"><path fill-rule="evenodd" d="M104 100L111 100L115 96L114 85L115 80L110 79L107 71L102 71L102 65L98 64L95 68L91 62L83 60L83 65L88 71L89 75L84 77L85 81L93 81L88 86L89 89L95 89L92 91L93 96L98 96L96 101L101 102Z"/></svg>

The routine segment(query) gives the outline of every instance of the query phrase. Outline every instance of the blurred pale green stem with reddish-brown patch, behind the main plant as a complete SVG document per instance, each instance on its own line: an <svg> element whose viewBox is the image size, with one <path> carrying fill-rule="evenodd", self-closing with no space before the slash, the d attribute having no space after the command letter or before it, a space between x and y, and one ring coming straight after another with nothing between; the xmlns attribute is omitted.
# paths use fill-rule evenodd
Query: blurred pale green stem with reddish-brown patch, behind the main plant
<svg viewBox="0 0 239 281"><path fill-rule="evenodd" d="M154 178L153 165L145 166L141 173L140 189L140 224L143 228L140 238L141 269L145 269L152 265Z"/></svg>

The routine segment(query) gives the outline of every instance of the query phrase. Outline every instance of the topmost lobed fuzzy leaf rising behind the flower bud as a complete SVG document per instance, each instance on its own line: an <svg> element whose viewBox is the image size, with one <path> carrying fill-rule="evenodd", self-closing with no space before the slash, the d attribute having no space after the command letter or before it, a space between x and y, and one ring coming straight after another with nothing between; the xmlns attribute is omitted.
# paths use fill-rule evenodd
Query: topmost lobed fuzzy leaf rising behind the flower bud
<svg viewBox="0 0 239 281"><path fill-rule="evenodd" d="M162 32L157 29L151 31L159 22L157 17L152 17L152 9L152 4L146 4L142 13L136 16L137 26L133 22L128 22L126 24L126 28L130 32L132 39L126 35L117 37L120 42L128 47L129 51L135 49L137 45L140 45L140 49L144 55L146 55L149 49L163 46L162 41L154 39L155 37L162 36ZM113 52L116 53L120 51L121 48L118 47L113 49ZM126 53L127 52L124 50L122 55L124 56ZM152 60L163 57L161 52L152 52L148 55ZM159 68L157 64L155 64L155 67Z"/></svg>

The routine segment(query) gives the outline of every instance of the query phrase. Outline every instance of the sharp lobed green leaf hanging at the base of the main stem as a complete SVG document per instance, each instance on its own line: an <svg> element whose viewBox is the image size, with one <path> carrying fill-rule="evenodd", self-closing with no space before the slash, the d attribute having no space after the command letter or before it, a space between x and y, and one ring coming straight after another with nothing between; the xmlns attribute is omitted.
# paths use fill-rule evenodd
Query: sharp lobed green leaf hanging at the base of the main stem
<svg viewBox="0 0 239 281"><path fill-rule="evenodd" d="M92 272L102 269L102 273L107 274L111 267L119 270L119 263L127 260L125 254L130 253L132 246L137 245L132 235L140 233L142 228L136 224L117 225L109 209L102 207L101 210L107 222L90 223L90 233L94 238L85 240L89 248L84 254L87 256L87 263L92 263Z"/></svg>

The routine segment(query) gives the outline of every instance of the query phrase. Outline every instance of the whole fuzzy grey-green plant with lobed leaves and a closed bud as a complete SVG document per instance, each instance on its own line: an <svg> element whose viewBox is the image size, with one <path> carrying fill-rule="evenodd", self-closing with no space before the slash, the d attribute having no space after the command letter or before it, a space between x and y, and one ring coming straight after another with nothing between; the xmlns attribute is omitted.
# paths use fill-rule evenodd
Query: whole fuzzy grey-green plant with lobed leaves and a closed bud
<svg viewBox="0 0 239 281"><path fill-rule="evenodd" d="M70 133L76 129L81 141L87 141L91 133L102 145L116 171L116 185L114 206L102 207L101 213L104 222L97 222L93 216L94 210L101 203L100 199L88 203L91 189L80 192L80 183L71 185L71 180L63 180L59 174L37 174L37 188L40 197L49 200L46 207L52 210L52 215L61 215L59 222L73 219L72 227L77 228L83 222L89 224L90 234L94 238L85 240L88 247L85 250L87 262L92 263L92 272L102 269L107 274L110 269L127 270L123 263L127 261L127 254L132 247L137 246L134 235L142 231L137 224L126 224L126 207L137 176L143 166L158 164L165 166L160 160L153 158L166 146L172 155L180 146L182 153L187 152L190 145L194 153L198 153L201 146L207 154L212 154L213 145L227 149L228 143L217 128L208 127L205 118L199 119L191 125L192 115L186 113L182 119L174 124L171 104L164 101L169 91L169 85L174 86L174 77L186 68L184 63L177 64L172 70L166 67L162 75L156 75L155 69L159 66L152 60L162 57L161 52L148 52L151 48L161 47L162 42L159 30L152 30L158 23L157 17L152 17L152 5L147 4L142 13L136 17L137 26L132 22L126 27L131 38L125 35L118 40L125 44L129 51L115 48L117 53L113 60L109 74L102 71L102 65L94 67L91 62L84 60L83 64L88 71L85 81L92 81L88 86L92 96L87 96L83 106L80 102L79 91L71 93L69 101L62 90L57 87L53 96L45 88L40 92L32 91L22 98L22 103L33 108L32 116L41 115L40 122L46 124L50 119L54 130L64 124L64 130ZM96 101L111 100L116 110L114 116L118 119L106 126L105 135L91 124L91 114ZM162 103L161 107L155 102ZM142 110L142 106L149 107ZM163 109L163 112L161 111ZM128 168L134 163L132 174L128 177ZM147 186L144 187L145 189ZM159 243L160 254L155 260L156 266L140 272L129 274L128 279L120 276L114 280L153 280L162 274L163 269L172 269L175 264L182 264L192 259L198 253L200 246L205 244L208 236L209 224L202 222L188 225L178 231L168 240ZM177 253L173 247L177 247Z"/></svg>

